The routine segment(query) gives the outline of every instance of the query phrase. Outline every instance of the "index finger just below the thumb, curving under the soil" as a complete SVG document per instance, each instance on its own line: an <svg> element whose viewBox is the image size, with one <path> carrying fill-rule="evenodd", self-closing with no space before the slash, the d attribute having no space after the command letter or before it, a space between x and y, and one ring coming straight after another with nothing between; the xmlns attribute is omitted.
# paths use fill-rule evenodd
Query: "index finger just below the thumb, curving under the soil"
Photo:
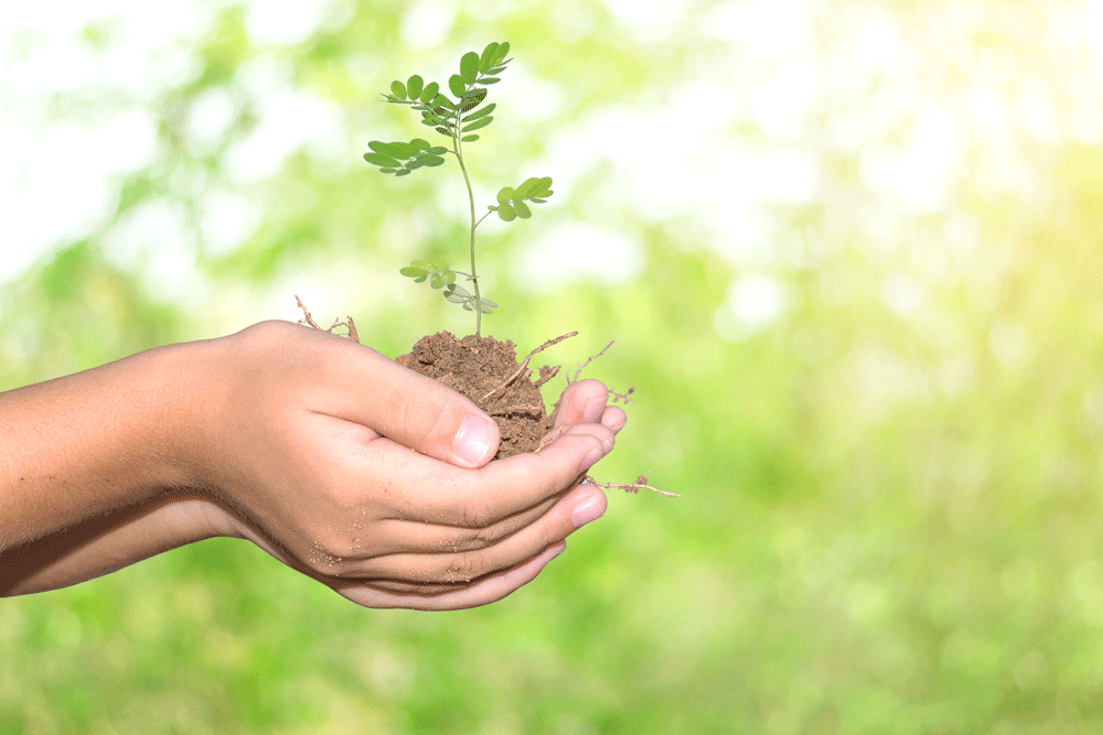
<svg viewBox="0 0 1103 735"><path fill-rule="evenodd" d="M392 478L392 518L484 529L561 494L614 442L608 428L580 424L538 454L517 454L474 472L403 451L387 440L372 442L363 457L374 474Z"/></svg>

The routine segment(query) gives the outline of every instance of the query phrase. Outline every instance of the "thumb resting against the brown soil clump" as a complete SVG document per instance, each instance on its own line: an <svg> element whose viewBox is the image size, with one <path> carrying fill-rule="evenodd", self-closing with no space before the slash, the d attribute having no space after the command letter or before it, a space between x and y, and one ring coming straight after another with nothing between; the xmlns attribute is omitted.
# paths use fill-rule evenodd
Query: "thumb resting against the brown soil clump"
<svg viewBox="0 0 1103 735"><path fill-rule="evenodd" d="M344 338L325 343L315 411L370 426L421 454L460 467L479 467L497 452L494 420L438 380L409 370Z"/></svg>

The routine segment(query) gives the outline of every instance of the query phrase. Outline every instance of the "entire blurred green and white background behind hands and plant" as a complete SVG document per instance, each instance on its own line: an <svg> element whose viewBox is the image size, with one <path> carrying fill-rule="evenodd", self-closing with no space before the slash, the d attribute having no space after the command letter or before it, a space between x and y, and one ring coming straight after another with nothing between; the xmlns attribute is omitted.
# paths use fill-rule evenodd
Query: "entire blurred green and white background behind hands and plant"
<svg viewBox="0 0 1103 735"><path fill-rule="evenodd" d="M510 41L489 331L621 390L599 523L452 614L240 541L0 601L2 733L1103 731L1103 3L42 0L0 19L0 388L266 318L470 314L381 105ZM479 205L483 206L482 204ZM561 381L548 386L554 397Z"/></svg>

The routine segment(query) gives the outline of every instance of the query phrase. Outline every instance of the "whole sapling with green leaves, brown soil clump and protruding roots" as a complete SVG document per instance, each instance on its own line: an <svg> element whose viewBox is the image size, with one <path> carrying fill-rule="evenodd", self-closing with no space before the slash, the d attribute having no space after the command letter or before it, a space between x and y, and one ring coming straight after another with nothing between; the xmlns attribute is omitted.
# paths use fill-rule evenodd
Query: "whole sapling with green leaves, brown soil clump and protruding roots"
<svg viewBox="0 0 1103 735"><path fill-rule="evenodd" d="M539 375L533 378L529 360L537 353L550 347L577 333L549 339L534 349L518 365L516 353L511 342L499 342L493 337L482 336L482 315L490 314L497 306L486 299L479 284L479 269L475 262L475 230L491 214L497 214L503 221L528 219L532 217L532 205L544 204L552 196L552 179L549 176L533 176L518 186L503 186L499 190L495 203L486 206L486 212L475 218L475 197L471 187L471 176L468 174L464 144L474 143L482 130L494 121L492 112L496 105L485 104L488 87L501 80L512 58L508 43L491 43L481 54L469 52L460 60L460 73L448 79L450 98L440 90L436 82L425 83L420 75L410 76L405 83L395 80L390 91L384 93L384 101L390 105L406 105L421 115L421 123L432 128L447 139L445 145L433 145L422 138L414 138L409 142L371 141L371 149L364 154L364 160L377 166L384 174L408 176L419 169L432 169L443 165L448 155L454 155L463 174L463 183L468 190L468 203L471 213L468 250L471 260L470 272L451 268L445 260L414 260L400 269L403 275L413 278L418 283L428 282L430 288L441 291L445 299L475 314L475 333L457 339L451 334L442 332L420 339L408 355L401 355L396 361L404 367L421 375L440 380L450 388L463 393L488 414L493 417L501 429L501 444L495 458L503 458L521 452L539 452L561 433L553 433L554 420L548 415L539 388L550 380L559 370L558 367L545 366ZM453 99L454 98L454 99ZM464 288L458 282L463 281ZM299 301L306 322L317 328L322 328L311 317L310 312ZM347 322L334 322L328 331L339 326L347 327L349 336L357 338L356 327L349 317ZM608 347L607 347L608 349ZM595 357L604 353L601 350ZM587 365L592 360L587 360ZM581 368L576 370L574 380L578 380ZM572 382L568 376L567 382ZM613 400L628 402L630 389L620 394L610 391ZM543 437L543 440L542 440ZM658 490L647 485L643 475L634 484L598 483L585 475L586 479L601 487L617 487L629 491L646 488Z"/></svg>

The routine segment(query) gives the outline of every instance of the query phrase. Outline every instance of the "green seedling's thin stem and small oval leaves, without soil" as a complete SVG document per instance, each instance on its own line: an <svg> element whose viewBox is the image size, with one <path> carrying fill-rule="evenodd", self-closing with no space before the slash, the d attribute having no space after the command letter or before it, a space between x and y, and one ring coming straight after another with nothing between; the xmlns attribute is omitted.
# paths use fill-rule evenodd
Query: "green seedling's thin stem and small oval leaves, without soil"
<svg viewBox="0 0 1103 735"><path fill-rule="evenodd" d="M433 145L422 138L409 142L385 143L371 141L372 149L364 154L364 160L378 166L384 174L408 176L424 167L436 167L445 163L451 154L460 164L463 182L468 186L468 199L471 207L471 230L469 250L471 256L471 272L465 273L449 267L445 260L415 260L399 272L413 278L417 283L429 282L433 289L443 289L445 299L475 313L475 336L482 336L482 315L490 314L497 304L485 299L479 288L479 270L475 267L475 229L496 212L503 221L516 218L532 217L532 204L544 204L552 196L552 179L526 179L520 186L503 186L497 192L497 203L486 206L488 212L475 220L475 197L471 190L471 177L468 175L463 144L479 140L475 130L485 128L494 121L491 112L496 104L486 101L486 88L501 82L501 74L513 61L506 58L510 54L508 43L491 43L479 54L468 52L460 58L460 73L448 79L448 90L454 99L440 90L436 82L425 84L425 79L415 74L404 84L400 80L390 83L390 93L383 94L384 101L393 105L407 105L421 114L421 125L432 128L448 139L448 145ZM470 283L471 291L457 284L457 275L462 275Z"/></svg>

